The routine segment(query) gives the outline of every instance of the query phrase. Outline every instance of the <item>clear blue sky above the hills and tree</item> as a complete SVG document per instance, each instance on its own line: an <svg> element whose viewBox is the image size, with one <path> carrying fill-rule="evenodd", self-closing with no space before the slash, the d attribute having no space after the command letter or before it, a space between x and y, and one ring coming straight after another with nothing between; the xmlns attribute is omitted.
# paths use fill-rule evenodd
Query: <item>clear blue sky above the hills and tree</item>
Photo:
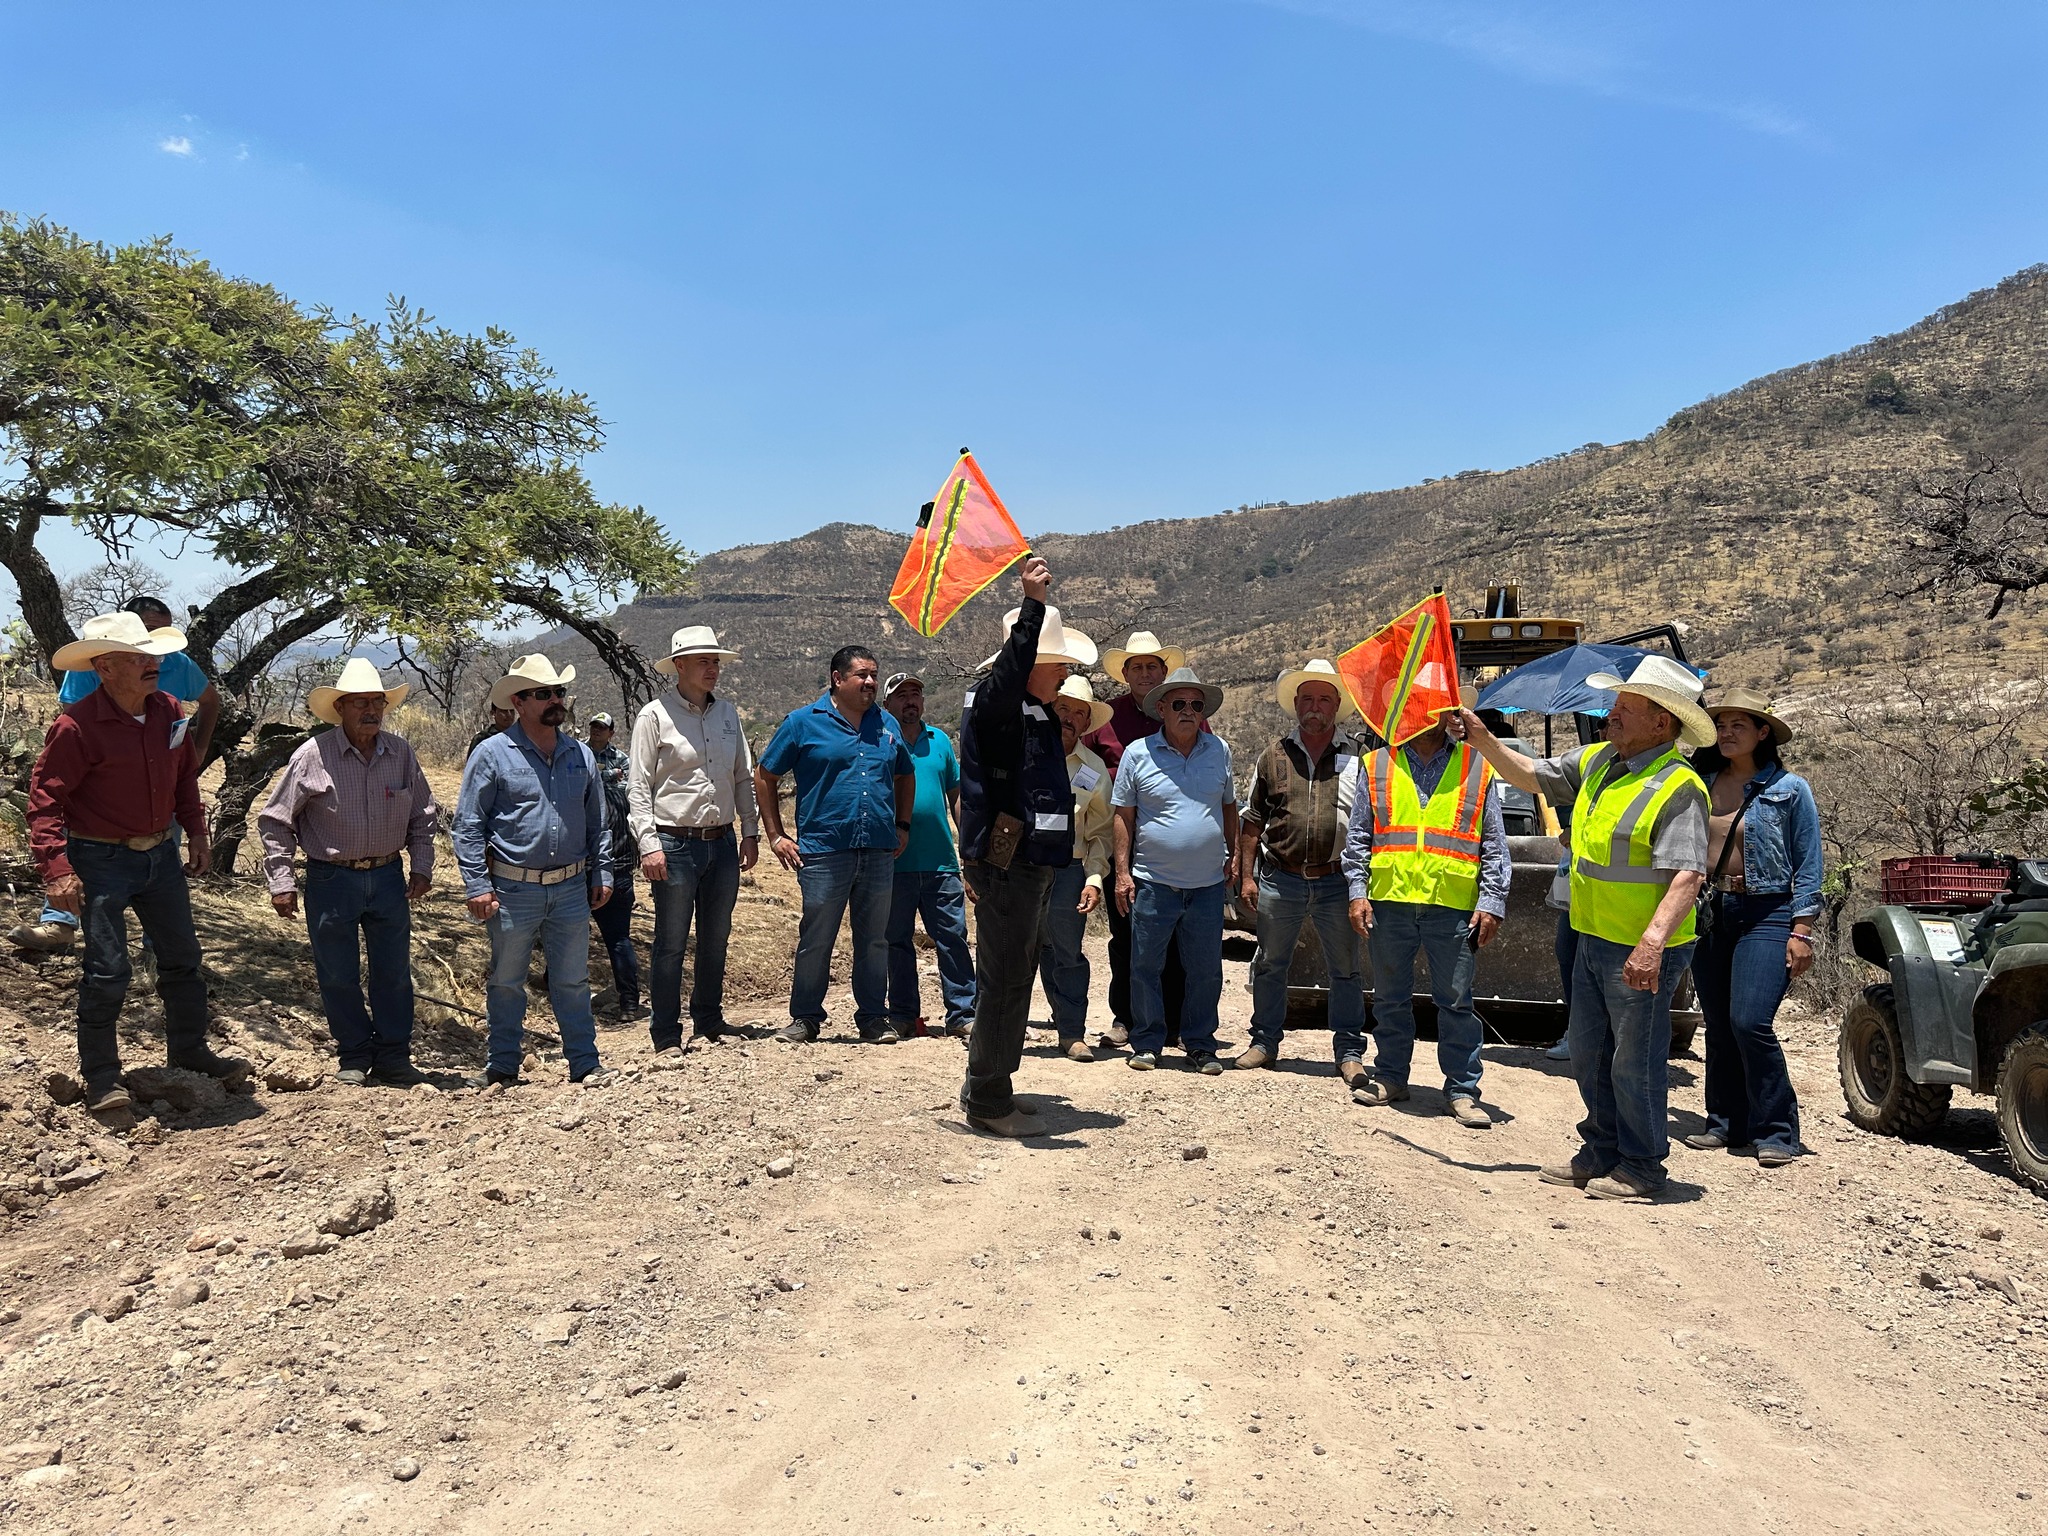
<svg viewBox="0 0 2048 1536"><path fill-rule="evenodd" d="M0 207L537 346L694 549L1655 428L2048 260L2048 8L0 4Z"/></svg>

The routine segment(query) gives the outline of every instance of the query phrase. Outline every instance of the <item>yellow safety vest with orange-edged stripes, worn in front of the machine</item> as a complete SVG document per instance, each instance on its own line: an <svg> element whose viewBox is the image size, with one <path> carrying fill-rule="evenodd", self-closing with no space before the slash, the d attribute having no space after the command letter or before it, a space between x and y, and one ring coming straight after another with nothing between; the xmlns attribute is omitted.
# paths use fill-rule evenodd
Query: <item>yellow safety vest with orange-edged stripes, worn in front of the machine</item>
<svg viewBox="0 0 2048 1536"><path fill-rule="evenodd" d="M1493 770L1462 741L1450 748L1444 776L1423 805L1407 756L1380 748L1364 764L1372 797L1374 901L1415 901L1470 911L1479 905L1479 842Z"/></svg>

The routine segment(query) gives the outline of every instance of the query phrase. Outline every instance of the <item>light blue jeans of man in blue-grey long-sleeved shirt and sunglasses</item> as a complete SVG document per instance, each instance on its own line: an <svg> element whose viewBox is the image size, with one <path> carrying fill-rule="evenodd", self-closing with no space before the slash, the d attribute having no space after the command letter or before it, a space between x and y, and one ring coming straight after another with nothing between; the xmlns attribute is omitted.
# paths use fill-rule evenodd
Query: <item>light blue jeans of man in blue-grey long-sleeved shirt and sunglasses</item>
<svg viewBox="0 0 2048 1536"><path fill-rule="evenodd" d="M590 885L492 881L498 915L492 918L492 983L483 997L489 1018L489 1069L518 1075L526 1020L526 967L532 946L547 956L547 1001L561 1030L569 1077L598 1069L598 1020L590 1012Z"/></svg>

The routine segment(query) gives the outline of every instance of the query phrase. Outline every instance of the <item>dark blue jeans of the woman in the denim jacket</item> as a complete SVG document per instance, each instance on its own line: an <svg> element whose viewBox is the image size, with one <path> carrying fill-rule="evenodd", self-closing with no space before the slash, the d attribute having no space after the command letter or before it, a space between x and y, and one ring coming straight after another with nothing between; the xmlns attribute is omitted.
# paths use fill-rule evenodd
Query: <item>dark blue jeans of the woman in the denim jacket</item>
<svg viewBox="0 0 2048 1536"><path fill-rule="evenodd" d="M1706 1128L1731 1147L1798 1151L1798 1098L1778 1044L1778 1004L1792 973L1790 895L1722 895L1714 932L1692 956L1706 1014Z"/></svg>

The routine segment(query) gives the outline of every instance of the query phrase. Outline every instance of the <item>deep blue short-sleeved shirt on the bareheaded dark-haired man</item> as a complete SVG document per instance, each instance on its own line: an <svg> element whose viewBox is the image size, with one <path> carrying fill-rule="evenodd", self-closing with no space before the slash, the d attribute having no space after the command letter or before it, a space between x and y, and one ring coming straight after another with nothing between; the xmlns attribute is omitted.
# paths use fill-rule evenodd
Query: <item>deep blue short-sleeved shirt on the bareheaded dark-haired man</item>
<svg viewBox="0 0 2048 1536"><path fill-rule="evenodd" d="M895 780L907 778L913 764L881 705L870 705L858 727L831 707L829 692L793 709L760 768L776 778L797 774L799 854L895 852Z"/></svg>

